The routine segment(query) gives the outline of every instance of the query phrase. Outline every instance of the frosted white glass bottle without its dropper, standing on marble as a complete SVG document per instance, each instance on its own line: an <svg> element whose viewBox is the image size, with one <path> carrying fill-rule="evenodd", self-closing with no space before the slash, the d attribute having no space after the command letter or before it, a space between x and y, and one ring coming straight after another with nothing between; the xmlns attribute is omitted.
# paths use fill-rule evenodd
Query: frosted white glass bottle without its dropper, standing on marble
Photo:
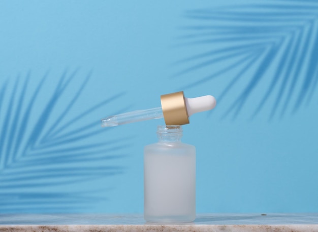
<svg viewBox="0 0 318 232"><path fill-rule="evenodd" d="M159 141L144 149L144 218L189 222L196 218L196 148L181 142L181 126L158 126Z"/></svg>

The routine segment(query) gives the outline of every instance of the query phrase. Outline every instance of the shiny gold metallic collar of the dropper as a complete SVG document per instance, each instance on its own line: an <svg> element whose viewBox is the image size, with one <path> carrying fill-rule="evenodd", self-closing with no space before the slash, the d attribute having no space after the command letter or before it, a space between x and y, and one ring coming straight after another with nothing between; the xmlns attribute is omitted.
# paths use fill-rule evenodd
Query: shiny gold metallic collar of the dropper
<svg viewBox="0 0 318 232"><path fill-rule="evenodd" d="M161 95L160 99L166 125L189 123L183 91Z"/></svg>

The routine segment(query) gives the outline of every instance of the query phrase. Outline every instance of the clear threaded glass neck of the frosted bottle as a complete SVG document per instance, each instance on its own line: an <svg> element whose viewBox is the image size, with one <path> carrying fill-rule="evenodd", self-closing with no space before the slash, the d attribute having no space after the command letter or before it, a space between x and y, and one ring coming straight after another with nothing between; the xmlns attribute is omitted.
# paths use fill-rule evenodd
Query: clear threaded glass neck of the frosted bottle
<svg viewBox="0 0 318 232"><path fill-rule="evenodd" d="M182 137L182 127L177 126L158 126L158 142L180 142Z"/></svg>

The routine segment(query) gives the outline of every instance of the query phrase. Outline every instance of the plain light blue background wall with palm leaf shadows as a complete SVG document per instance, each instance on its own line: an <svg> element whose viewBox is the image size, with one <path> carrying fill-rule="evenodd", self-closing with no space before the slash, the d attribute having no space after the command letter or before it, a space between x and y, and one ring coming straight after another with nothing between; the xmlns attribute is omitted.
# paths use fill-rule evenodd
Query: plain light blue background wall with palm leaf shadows
<svg viewBox="0 0 318 232"><path fill-rule="evenodd" d="M108 115L211 94L197 212L317 212L315 1L1 1L0 212L143 212L152 120Z"/></svg>

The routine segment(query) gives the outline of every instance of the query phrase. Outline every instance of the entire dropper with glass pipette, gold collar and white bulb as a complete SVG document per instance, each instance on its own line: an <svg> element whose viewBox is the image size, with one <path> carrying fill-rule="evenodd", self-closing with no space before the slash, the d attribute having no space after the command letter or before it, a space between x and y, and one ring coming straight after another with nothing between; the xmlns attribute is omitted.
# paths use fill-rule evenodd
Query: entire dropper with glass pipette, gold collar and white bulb
<svg viewBox="0 0 318 232"><path fill-rule="evenodd" d="M135 110L112 115L102 119L102 127L114 127L122 124L164 118L166 125L188 124L188 117L194 113L211 110L216 105L213 96L185 98L183 91L161 96L162 107Z"/></svg>

